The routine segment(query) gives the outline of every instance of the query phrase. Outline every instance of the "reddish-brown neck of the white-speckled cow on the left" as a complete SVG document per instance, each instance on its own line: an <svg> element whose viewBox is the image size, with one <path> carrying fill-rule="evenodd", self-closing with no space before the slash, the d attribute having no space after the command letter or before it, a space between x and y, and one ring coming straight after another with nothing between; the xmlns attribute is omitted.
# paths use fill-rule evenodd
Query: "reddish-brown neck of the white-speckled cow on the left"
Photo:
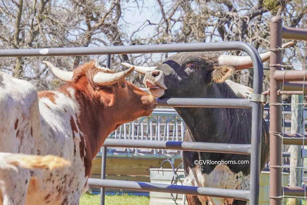
<svg viewBox="0 0 307 205"><path fill-rule="evenodd" d="M117 126L114 122L115 106L105 106L103 102L89 97L90 91L73 88L80 110L77 116L78 127L83 133L85 150L92 160L99 152L107 136Z"/></svg>

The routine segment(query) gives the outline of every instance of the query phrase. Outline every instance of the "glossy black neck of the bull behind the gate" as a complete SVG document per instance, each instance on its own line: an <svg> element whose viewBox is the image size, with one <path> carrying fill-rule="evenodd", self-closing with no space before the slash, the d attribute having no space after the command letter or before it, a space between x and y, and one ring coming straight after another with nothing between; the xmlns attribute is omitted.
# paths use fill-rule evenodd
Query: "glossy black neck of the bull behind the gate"
<svg viewBox="0 0 307 205"><path fill-rule="evenodd" d="M203 98L238 98L226 83L212 84L205 90ZM232 129L236 127L233 108L175 108L196 142L229 143ZM236 110L236 111L235 111Z"/></svg>

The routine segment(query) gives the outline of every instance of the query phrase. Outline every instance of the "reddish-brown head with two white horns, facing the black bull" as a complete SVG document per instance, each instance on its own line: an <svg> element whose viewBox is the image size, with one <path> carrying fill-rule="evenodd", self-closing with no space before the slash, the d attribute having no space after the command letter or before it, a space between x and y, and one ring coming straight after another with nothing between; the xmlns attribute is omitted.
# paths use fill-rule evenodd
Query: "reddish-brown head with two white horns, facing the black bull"
<svg viewBox="0 0 307 205"><path fill-rule="evenodd" d="M107 120L112 120L115 128L138 117L150 115L156 106L156 99L152 95L125 80L134 70L133 66L115 73L99 66L96 61L91 61L68 72L60 70L48 61L44 63L56 77L75 88L78 93L76 98L82 99L79 104L89 104L84 109L94 107L97 115L99 110L103 110L103 114L107 112L110 118Z"/></svg>

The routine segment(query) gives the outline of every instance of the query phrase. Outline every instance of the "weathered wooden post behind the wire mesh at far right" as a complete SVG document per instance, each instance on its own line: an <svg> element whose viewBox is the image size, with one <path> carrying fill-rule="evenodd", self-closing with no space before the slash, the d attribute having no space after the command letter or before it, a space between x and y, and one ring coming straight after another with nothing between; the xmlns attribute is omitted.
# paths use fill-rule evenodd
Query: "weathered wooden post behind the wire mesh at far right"
<svg viewBox="0 0 307 205"><path fill-rule="evenodd" d="M292 95L291 99L291 133L303 133L303 95ZM302 166L302 145L290 145L290 187L301 187L302 170L295 167ZM301 199L291 198L289 205L301 203Z"/></svg>

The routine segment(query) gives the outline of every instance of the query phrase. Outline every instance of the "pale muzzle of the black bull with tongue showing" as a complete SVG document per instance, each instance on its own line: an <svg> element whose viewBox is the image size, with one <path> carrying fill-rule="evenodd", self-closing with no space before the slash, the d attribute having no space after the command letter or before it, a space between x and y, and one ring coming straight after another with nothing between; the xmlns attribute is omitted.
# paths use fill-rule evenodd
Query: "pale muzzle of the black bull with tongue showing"
<svg viewBox="0 0 307 205"><path fill-rule="evenodd" d="M161 70L148 71L144 77L144 85L157 98L164 95L165 90L167 90L164 84L164 74Z"/></svg>

